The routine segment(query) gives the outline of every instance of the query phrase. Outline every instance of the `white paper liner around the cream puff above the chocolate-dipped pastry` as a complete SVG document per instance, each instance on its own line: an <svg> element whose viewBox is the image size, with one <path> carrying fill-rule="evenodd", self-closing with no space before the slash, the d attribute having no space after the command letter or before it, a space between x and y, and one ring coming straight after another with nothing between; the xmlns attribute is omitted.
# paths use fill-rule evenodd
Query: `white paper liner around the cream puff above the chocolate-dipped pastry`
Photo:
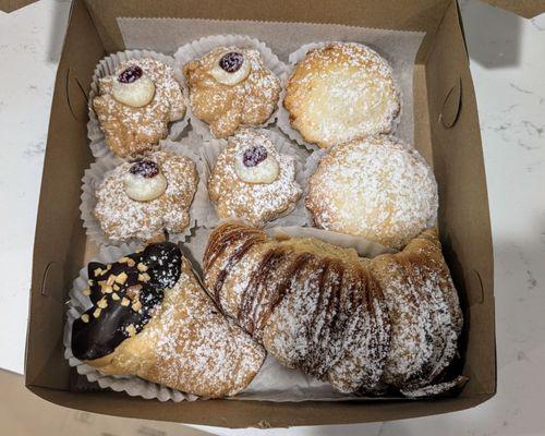
<svg viewBox="0 0 545 436"><path fill-rule="evenodd" d="M205 166L198 152L193 148L197 147L202 140L196 134L191 134L181 142L165 140L160 142L162 149L170 149L179 156L185 156L192 159L197 168L198 184L190 206L190 222L182 232L169 232L169 240L172 242L184 242L190 238L192 229L197 226L197 220L205 220L208 214L208 192L206 190ZM190 145L192 144L192 145ZM96 191L99 189L102 181L124 161L119 157L104 157L92 164L85 170L82 179L82 196L80 204L80 213L85 228L86 234L99 245L121 245L123 243L138 242L137 239L129 239L125 241L112 240L102 230L100 222L95 217L94 209L97 205Z"/></svg>

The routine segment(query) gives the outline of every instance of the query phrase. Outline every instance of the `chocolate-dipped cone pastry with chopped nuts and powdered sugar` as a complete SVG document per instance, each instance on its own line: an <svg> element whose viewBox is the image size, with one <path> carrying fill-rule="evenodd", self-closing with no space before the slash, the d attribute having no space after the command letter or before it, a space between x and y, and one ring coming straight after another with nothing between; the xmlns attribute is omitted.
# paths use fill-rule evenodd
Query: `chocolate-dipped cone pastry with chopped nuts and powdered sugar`
<svg viewBox="0 0 545 436"><path fill-rule="evenodd" d="M223 317L175 244L89 263L88 277L93 306L74 320L71 347L101 373L217 398L258 372L263 349Z"/></svg>

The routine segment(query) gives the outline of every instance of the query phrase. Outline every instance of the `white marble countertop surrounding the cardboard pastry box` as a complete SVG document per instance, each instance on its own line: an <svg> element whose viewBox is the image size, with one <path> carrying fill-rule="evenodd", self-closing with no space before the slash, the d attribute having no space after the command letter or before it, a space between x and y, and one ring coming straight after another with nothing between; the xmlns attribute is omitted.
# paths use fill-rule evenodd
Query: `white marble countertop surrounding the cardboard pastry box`
<svg viewBox="0 0 545 436"><path fill-rule="evenodd" d="M498 393L463 412L283 435L543 435L545 14L461 1L492 213ZM55 73L70 3L0 12L0 367L23 372L31 258ZM255 434L203 427L218 434Z"/></svg>

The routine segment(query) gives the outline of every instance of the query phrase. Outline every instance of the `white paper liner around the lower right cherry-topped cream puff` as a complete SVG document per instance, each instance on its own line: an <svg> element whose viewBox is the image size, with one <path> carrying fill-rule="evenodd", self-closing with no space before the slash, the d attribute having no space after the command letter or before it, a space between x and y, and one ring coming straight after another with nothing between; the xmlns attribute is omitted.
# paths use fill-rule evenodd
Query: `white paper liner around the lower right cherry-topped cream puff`
<svg viewBox="0 0 545 436"><path fill-rule="evenodd" d="M288 155L293 157L295 162L295 182L303 190L304 186L304 167L308 153L304 149L299 148L295 144L292 144L283 135L269 129L256 129L255 131L266 135L272 144L275 144L277 150L281 155ZM208 140L206 144L201 148L201 156L203 158L204 171L206 180L209 179L214 167L218 160L219 155L227 147L228 142L225 140ZM222 221L216 214L214 204L209 202L209 213L207 214L206 221L199 221L199 226L206 228L216 227L220 221ZM307 214L304 208L303 194L299 198L295 207L287 213L282 214L272 221L265 225L265 228L275 226L306 226L308 225Z"/></svg>

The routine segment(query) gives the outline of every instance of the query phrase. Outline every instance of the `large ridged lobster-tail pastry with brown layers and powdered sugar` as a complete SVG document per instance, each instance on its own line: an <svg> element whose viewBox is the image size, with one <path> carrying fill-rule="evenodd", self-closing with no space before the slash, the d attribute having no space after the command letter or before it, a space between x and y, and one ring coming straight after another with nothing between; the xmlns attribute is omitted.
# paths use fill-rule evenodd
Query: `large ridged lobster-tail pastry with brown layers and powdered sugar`
<svg viewBox="0 0 545 436"><path fill-rule="evenodd" d="M204 276L225 313L281 364L341 392L427 387L457 353L462 314L435 229L368 259L228 222L210 235Z"/></svg>

